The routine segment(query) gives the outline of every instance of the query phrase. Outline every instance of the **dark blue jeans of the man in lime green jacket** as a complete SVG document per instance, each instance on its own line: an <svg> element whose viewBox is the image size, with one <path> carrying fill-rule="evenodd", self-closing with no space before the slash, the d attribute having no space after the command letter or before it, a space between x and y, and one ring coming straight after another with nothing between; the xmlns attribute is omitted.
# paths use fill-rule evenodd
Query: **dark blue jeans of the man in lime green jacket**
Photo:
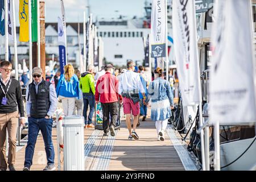
<svg viewBox="0 0 256 182"><path fill-rule="evenodd" d="M82 98L84 99L84 111L82 115L84 116L85 125L90 125L95 109L95 96L92 93L82 93ZM90 105L90 112L87 118L88 105Z"/></svg>

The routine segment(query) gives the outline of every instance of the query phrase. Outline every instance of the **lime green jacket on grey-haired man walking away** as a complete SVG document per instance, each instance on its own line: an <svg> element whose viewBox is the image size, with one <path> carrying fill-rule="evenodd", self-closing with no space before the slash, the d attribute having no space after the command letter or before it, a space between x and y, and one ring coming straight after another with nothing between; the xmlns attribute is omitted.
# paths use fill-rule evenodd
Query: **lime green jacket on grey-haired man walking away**
<svg viewBox="0 0 256 182"><path fill-rule="evenodd" d="M79 81L79 87L82 90L82 93L91 92L93 95L95 94L94 77L92 73L82 73Z"/></svg>

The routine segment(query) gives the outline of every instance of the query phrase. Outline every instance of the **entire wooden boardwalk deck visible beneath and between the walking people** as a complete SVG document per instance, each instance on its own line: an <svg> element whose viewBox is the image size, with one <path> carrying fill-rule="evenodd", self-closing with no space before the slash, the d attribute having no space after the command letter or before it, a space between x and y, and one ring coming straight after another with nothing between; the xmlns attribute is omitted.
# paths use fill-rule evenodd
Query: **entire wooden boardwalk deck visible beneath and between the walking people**
<svg viewBox="0 0 256 182"><path fill-rule="evenodd" d="M84 143L93 133L93 129L85 129ZM139 140L128 140L129 135L125 121L121 124L115 136L112 155L109 160L108 170L184 170L183 164L177 155L174 146L165 134L165 140L158 141L155 129L155 123L147 119L141 122L137 133ZM98 158L102 155L107 137L102 137L103 132L98 135L90 154L85 160L85 170L95 170L99 164ZM52 132L53 145L55 148L55 166L57 168L57 138L56 129ZM24 163L25 148L17 152L15 167L22 170ZM63 153L61 153L61 160ZM35 147L33 165L31 170L42 170L47 164L46 152L44 151L44 143L42 136L38 137ZM63 170L63 164L61 165Z"/></svg>

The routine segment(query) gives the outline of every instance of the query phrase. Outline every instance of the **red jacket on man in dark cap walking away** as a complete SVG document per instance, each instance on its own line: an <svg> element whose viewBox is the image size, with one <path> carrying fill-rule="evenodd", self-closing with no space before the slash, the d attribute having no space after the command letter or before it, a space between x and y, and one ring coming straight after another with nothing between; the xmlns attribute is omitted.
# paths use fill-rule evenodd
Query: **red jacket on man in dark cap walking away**
<svg viewBox="0 0 256 182"><path fill-rule="evenodd" d="M109 72L98 78L96 84L95 101L101 103L111 103L122 100L122 96L118 94L118 78Z"/></svg>

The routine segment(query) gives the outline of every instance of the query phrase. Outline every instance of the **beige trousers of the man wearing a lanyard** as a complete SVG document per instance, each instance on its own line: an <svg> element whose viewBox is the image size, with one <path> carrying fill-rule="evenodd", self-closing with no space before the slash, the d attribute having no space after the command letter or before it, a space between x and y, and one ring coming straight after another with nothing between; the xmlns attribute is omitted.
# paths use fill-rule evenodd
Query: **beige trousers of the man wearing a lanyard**
<svg viewBox="0 0 256 182"><path fill-rule="evenodd" d="M9 142L8 164L15 163L18 118L18 111L15 111L14 113L0 114L0 168L7 168L5 151L6 129L8 131Z"/></svg>

